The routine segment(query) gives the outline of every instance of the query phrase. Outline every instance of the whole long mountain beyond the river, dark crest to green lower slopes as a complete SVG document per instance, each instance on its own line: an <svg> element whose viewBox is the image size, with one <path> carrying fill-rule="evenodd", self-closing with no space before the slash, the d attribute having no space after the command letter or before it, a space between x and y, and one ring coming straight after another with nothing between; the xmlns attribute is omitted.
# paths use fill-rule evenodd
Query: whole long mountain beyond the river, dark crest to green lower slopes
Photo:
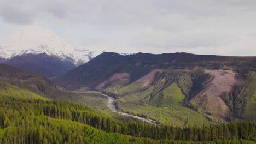
<svg viewBox="0 0 256 144"><path fill-rule="evenodd" d="M119 111L184 126L248 120L242 113L248 112L247 100L254 97L255 90L249 95L245 92L255 84L255 71L256 57L104 52L54 81L67 89L108 94L116 99ZM229 100L231 96L223 93L236 94ZM165 107L176 108L170 112ZM251 120L256 120L256 113Z"/></svg>

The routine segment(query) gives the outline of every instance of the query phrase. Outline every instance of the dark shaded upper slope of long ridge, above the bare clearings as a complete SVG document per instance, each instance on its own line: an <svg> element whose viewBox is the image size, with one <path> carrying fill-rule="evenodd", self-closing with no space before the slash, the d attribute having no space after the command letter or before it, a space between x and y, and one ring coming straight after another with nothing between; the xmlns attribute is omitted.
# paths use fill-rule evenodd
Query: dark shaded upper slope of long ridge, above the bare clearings
<svg viewBox="0 0 256 144"><path fill-rule="evenodd" d="M190 53L164 53L153 55L137 53L122 56L118 53L104 52L90 62L68 71L56 79L68 88L96 88L101 82L117 73L128 73L132 83L153 69L194 69L197 66L219 69L224 65L237 67L237 70L255 70L256 57L233 57L213 55L193 55Z"/></svg>

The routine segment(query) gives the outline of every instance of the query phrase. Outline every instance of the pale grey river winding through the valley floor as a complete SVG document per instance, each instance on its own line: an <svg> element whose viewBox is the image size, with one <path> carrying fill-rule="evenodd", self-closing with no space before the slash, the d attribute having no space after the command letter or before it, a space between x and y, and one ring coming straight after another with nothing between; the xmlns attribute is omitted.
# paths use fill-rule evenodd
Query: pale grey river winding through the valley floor
<svg viewBox="0 0 256 144"><path fill-rule="evenodd" d="M106 95L106 94L102 94L104 97L108 97L108 108L110 110L112 110L113 112L117 112L121 115L125 115L125 116L131 116L131 117L134 117L134 118L137 118L137 119L140 119L141 121L144 121L144 122L148 122L148 123L152 123L152 124L156 124L155 121L151 120L151 119L146 119L146 118L142 118L142 117L139 117L139 116L133 116L133 115L130 115L128 113L124 113L124 112L118 112L118 109L117 109L117 106L114 104L115 102L115 99Z"/></svg>

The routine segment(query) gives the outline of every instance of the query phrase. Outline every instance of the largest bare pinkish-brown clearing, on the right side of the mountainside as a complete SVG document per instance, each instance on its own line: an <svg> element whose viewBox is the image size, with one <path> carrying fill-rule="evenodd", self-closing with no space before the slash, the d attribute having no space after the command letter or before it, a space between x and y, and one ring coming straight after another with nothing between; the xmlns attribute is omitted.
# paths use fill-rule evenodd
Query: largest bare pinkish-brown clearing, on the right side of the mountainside
<svg viewBox="0 0 256 144"><path fill-rule="evenodd" d="M231 91L234 84L242 83L244 80L238 79L236 73L232 70L206 69L205 73L211 74L213 78L205 84L205 91L199 95L196 103L197 105L205 105L206 112L211 113L213 116L227 118L230 116L231 109L220 98L220 94L224 91ZM205 95L207 100L203 102Z"/></svg>

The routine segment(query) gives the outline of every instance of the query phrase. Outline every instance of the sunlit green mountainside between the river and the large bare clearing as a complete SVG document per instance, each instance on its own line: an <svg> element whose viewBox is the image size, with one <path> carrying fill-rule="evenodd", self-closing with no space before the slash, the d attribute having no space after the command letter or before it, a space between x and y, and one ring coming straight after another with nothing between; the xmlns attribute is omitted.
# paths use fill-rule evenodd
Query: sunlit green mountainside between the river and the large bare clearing
<svg viewBox="0 0 256 144"><path fill-rule="evenodd" d="M119 98L120 111L148 116L161 124L184 126L211 123L198 112L184 106L185 95L178 87L176 79L190 71L168 69L147 87L142 87L143 83L133 82L120 89L118 92L124 95Z"/></svg>

